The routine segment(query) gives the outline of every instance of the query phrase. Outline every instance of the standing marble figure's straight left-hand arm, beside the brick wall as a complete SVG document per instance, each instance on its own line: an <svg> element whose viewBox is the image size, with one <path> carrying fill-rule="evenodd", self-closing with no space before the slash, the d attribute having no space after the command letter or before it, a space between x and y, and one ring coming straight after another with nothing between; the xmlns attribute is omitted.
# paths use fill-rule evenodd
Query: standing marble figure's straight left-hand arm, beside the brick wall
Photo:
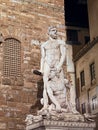
<svg viewBox="0 0 98 130"><path fill-rule="evenodd" d="M41 46L41 64L40 64L40 72L44 72L44 62L45 62L45 48Z"/></svg>

